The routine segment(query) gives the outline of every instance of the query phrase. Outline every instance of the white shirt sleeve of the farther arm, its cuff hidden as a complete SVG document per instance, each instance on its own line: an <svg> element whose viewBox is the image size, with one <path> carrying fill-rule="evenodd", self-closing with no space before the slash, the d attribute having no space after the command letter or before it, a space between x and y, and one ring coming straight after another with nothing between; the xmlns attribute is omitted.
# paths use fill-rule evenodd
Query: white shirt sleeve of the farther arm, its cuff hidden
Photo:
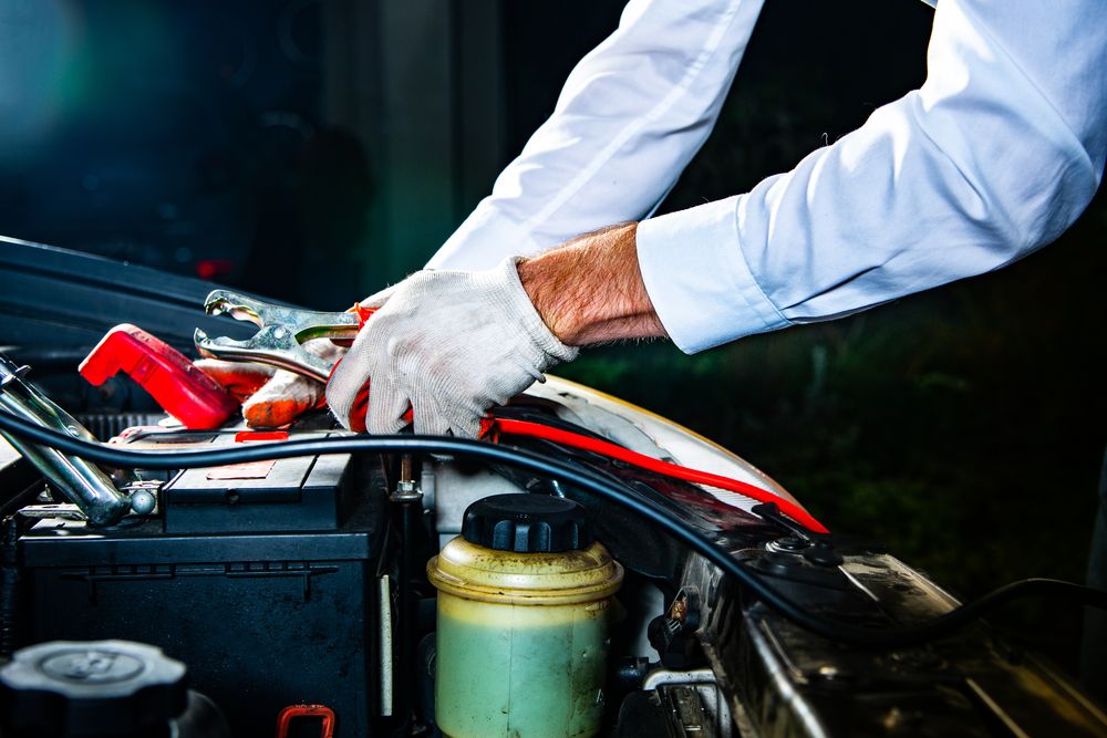
<svg viewBox="0 0 1107 738"><path fill-rule="evenodd" d="M651 212L711 133L761 8L631 0L427 267L486 269Z"/></svg>

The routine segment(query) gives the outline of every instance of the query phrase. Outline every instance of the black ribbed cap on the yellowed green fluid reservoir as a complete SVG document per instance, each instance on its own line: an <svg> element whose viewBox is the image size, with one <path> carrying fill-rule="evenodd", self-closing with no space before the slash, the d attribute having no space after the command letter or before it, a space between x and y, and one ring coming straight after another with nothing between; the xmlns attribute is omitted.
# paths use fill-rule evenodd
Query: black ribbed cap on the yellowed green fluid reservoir
<svg viewBox="0 0 1107 738"><path fill-rule="evenodd" d="M516 553L559 553L592 544L584 508L548 495L495 495L465 510L462 537L469 543Z"/></svg>

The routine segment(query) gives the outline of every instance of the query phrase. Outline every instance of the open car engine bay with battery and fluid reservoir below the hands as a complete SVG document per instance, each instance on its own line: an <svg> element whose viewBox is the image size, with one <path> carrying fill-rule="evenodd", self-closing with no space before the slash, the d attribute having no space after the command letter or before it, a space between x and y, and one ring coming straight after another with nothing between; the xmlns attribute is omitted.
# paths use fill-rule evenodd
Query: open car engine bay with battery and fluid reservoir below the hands
<svg viewBox="0 0 1107 738"><path fill-rule="evenodd" d="M68 396L71 368L41 345L12 353L45 360L35 392ZM9 394L40 372L8 364ZM796 500L733 453L555 377L497 417L487 443L374 439L322 410L255 432L97 408L69 433L131 459L99 464L126 506L106 522L4 426L23 454L0 444L0 664L52 663L25 654L58 642L147 644L187 669L188 714L221 716L59 732L80 699L9 680L12 736L1107 732L1068 677L985 623L928 632L953 595L875 542L797 522ZM103 719L154 701L128 694Z"/></svg>

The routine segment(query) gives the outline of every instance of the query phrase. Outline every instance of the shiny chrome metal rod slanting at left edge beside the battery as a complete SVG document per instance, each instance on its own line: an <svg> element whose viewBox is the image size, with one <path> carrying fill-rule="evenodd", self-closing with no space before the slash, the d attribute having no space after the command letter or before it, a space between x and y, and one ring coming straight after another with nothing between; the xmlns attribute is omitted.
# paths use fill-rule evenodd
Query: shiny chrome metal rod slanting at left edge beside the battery
<svg viewBox="0 0 1107 738"><path fill-rule="evenodd" d="M0 355L0 407L17 417L31 420L52 430L95 440L73 417L23 382L25 367L20 368ZM131 510L131 502L96 465L69 456L53 448L28 444L2 434L65 497L84 512L93 524L107 526Z"/></svg>

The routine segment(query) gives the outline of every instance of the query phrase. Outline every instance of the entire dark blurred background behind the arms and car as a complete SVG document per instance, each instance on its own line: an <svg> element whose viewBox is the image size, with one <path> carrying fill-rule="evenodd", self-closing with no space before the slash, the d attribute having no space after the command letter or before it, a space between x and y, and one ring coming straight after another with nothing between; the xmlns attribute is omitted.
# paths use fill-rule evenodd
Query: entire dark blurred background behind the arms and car
<svg viewBox="0 0 1107 738"><path fill-rule="evenodd" d="M407 11L410 31L438 24L443 50L377 31L394 28L390 0L8 0L0 233L343 308L437 248L622 4L484 0L495 22L474 28L463 2ZM354 15L335 41L335 18ZM743 191L918 86L931 18L912 0L768 0L716 131L663 210ZM443 59L448 94L418 66L374 85L396 73L397 48ZM472 80L452 71L473 49L500 101L475 114ZM334 113L363 100L385 112L445 100L453 148L396 165L411 126ZM467 145L473 119L498 143ZM445 205L411 205L424 197ZM431 236L397 240L382 202L407 204ZM736 450L832 529L882 540L955 593L1078 580L1105 446L1105 235L1099 196L1056 243L994 274L696 356L589 351L559 373ZM1036 602L995 622L1075 663L1075 610Z"/></svg>

